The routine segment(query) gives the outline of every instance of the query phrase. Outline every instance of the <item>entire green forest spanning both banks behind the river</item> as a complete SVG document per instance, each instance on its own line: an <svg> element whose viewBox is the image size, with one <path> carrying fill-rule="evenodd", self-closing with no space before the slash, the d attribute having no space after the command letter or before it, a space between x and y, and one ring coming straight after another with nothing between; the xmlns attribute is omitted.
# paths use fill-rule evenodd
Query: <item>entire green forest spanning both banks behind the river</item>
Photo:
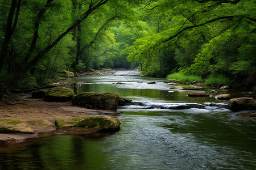
<svg viewBox="0 0 256 170"><path fill-rule="evenodd" d="M255 86L256 0L0 0L0 90L57 73L179 72Z"/></svg>

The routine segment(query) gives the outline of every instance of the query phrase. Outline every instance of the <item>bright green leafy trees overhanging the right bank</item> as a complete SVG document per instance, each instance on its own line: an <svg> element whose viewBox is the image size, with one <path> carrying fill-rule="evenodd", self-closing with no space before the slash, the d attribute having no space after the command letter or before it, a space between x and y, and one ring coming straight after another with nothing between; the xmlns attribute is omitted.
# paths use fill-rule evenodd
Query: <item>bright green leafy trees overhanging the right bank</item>
<svg viewBox="0 0 256 170"><path fill-rule="evenodd" d="M163 54L174 50L173 71L255 80L255 3L150 1L141 15L149 29L126 48L127 58L142 62L144 74L161 75Z"/></svg>

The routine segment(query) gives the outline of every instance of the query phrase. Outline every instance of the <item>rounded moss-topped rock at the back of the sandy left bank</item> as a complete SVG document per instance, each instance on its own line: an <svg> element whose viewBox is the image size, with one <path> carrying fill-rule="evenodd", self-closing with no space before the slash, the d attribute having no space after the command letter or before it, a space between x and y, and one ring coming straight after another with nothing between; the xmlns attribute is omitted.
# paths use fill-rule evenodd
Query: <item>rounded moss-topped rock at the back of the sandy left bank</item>
<svg viewBox="0 0 256 170"><path fill-rule="evenodd" d="M44 97L47 101L69 101L75 96L74 92L65 87L55 87L49 90Z"/></svg>

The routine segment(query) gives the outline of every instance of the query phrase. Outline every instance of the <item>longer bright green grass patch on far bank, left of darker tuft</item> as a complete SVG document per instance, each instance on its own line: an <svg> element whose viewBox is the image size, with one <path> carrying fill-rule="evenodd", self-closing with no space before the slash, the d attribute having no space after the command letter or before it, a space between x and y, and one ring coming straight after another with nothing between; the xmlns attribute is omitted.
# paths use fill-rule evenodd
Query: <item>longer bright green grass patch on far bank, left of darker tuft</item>
<svg viewBox="0 0 256 170"><path fill-rule="evenodd" d="M201 80L201 77L196 75L184 75L181 73L173 73L169 74L166 79L180 80L181 83L192 83L193 81L199 82Z"/></svg>

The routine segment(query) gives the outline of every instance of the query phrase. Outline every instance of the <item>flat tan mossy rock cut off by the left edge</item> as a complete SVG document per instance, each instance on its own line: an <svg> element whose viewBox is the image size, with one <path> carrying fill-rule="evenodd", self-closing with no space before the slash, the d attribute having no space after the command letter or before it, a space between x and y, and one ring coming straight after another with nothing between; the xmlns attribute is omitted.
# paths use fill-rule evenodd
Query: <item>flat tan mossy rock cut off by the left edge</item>
<svg viewBox="0 0 256 170"><path fill-rule="evenodd" d="M25 121L13 118L0 118L0 133L33 134L34 130Z"/></svg>

